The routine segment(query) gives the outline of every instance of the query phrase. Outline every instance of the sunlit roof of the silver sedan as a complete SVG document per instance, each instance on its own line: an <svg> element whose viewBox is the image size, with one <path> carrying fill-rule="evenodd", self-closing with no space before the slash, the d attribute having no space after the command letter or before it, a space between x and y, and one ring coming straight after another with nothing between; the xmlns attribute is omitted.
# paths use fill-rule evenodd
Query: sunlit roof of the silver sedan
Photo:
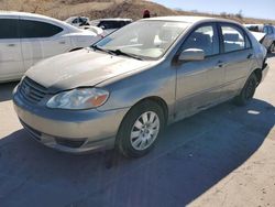
<svg viewBox="0 0 275 207"><path fill-rule="evenodd" d="M170 17L157 17L157 18L148 18L142 19L142 21L174 21L174 22L185 22L185 23L198 23L198 22L212 22L212 21L221 21L221 22L231 22L238 23L232 20L221 19L221 18L211 18L211 17L196 17L196 15L170 15Z"/></svg>

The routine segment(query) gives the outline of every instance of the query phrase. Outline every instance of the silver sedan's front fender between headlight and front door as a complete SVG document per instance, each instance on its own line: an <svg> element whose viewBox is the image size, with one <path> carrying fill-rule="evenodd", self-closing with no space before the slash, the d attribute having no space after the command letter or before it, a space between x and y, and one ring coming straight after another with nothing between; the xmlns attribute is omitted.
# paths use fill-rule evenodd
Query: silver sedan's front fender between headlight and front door
<svg viewBox="0 0 275 207"><path fill-rule="evenodd" d="M124 75L121 78L109 79L98 85L110 91L108 101L98 110L106 111L129 108L148 97L163 99L168 111L174 110L176 70L167 61L151 68Z"/></svg>

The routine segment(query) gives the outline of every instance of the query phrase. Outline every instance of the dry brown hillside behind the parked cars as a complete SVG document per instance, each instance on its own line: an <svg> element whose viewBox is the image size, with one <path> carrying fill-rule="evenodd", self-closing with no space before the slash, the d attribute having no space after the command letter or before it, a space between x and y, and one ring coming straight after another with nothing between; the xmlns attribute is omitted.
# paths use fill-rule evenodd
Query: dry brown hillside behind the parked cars
<svg viewBox="0 0 275 207"><path fill-rule="evenodd" d="M0 10L16 10L41 13L61 20L72 15L99 18L132 18L142 17L144 9L153 15L213 15L209 13L178 11L161 4L142 0L0 0ZM220 15L213 15L220 17ZM271 20L246 19L240 14L221 13L222 18L233 19L242 23L275 23Z"/></svg>

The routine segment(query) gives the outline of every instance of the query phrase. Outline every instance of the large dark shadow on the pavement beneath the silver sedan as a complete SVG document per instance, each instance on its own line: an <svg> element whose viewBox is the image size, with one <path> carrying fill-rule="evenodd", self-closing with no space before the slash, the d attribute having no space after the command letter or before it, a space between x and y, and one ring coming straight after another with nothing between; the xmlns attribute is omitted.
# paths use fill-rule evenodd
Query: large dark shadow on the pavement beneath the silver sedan
<svg viewBox="0 0 275 207"><path fill-rule="evenodd" d="M0 140L0 203L185 206L255 153L274 123L275 110L268 102L222 103L168 127L154 151L138 160L112 151L61 153L19 130Z"/></svg>

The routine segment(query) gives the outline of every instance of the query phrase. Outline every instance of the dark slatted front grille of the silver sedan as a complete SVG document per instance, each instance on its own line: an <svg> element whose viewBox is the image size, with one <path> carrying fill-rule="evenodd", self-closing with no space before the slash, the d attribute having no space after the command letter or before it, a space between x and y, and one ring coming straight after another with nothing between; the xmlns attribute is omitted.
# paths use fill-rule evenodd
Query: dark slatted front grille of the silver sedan
<svg viewBox="0 0 275 207"><path fill-rule="evenodd" d="M19 86L19 92L25 100L37 103L45 97L47 89L31 78L25 77Z"/></svg>

